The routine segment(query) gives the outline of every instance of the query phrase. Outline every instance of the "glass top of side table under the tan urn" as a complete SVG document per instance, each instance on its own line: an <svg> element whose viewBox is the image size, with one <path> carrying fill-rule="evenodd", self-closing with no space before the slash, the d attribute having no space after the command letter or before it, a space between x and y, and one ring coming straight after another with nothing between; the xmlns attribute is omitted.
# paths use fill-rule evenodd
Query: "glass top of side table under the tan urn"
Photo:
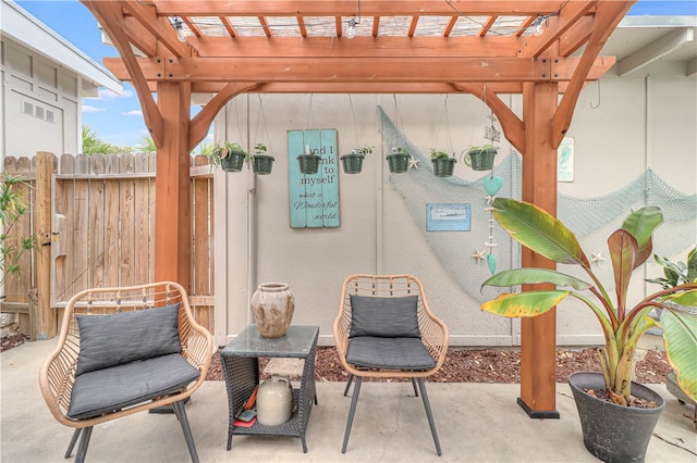
<svg viewBox="0 0 697 463"><path fill-rule="evenodd" d="M280 338L265 338L256 325L244 328L220 352L239 356L295 356L305 359L317 342L319 326L291 325Z"/></svg>

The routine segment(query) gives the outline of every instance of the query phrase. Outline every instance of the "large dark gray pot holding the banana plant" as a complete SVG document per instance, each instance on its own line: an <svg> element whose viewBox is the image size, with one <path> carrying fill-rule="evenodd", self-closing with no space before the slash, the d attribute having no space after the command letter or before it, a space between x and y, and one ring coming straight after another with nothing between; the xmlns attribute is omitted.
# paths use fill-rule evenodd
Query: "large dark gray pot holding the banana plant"
<svg viewBox="0 0 697 463"><path fill-rule="evenodd" d="M644 462L653 428L665 408L663 398L646 386L632 383L632 395L652 400L655 409L616 405L596 399L587 389L606 388L601 373L580 372L568 376L576 401L584 445L590 453L608 463Z"/></svg>

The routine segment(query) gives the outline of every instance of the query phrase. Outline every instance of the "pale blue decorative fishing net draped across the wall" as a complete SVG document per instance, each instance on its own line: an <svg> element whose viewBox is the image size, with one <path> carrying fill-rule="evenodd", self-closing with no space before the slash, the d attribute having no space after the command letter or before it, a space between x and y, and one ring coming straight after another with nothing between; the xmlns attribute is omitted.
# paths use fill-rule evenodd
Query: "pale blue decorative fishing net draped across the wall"
<svg viewBox="0 0 697 463"><path fill-rule="evenodd" d="M523 183L519 154L509 155L494 166L492 174L482 173L485 175L474 182L456 176L436 177L428 157L404 136L381 107L378 107L378 117L384 151L390 152L392 147L403 147L418 161L418 168L390 175L390 183L404 198L415 224L443 267L465 292L479 301L490 299L492 292L487 290L482 293L480 286L491 272L486 259L477 259L477 254L494 254L498 271L518 267L521 249L498 225L490 233L491 214L487 210L489 203L484 178L490 175L501 176L503 186L497 196L519 199ZM426 204L438 203L470 204L470 230L427 232ZM663 213L664 222L653 235L653 252L665 256L681 255L695 246L697 195L685 195L672 188L651 170L647 170L631 184L601 197L558 196L557 215L576 235L582 248L592 260L594 272L608 288L612 281L612 265L607 239L622 226L632 210L644 205L657 205ZM487 242L496 243L496 247L488 247L485 245ZM576 267L558 267L565 273L587 278ZM509 289L499 292L508 291Z"/></svg>

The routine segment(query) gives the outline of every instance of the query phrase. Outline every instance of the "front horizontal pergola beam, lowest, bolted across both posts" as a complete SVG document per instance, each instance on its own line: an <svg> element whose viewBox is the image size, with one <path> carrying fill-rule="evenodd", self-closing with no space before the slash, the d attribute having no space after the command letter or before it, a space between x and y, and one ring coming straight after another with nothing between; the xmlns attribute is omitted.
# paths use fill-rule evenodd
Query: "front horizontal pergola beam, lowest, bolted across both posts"
<svg viewBox="0 0 697 463"><path fill-rule="evenodd" d="M137 59L148 82L262 82L262 83L523 83L572 80L578 58L521 60L517 58L452 59L447 67L437 65L441 59L408 58L353 59L353 66L340 66L342 58L322 60L278 58L183 58ZM612 60L594 60L587 77L602 75ZM105 59L105 65L118 78L130 80L127 66L119 59ZM594 70L594 72L591 72ZM583 83L584 80L582 80ZM396 90L394 90L396 91Z"/></svg>

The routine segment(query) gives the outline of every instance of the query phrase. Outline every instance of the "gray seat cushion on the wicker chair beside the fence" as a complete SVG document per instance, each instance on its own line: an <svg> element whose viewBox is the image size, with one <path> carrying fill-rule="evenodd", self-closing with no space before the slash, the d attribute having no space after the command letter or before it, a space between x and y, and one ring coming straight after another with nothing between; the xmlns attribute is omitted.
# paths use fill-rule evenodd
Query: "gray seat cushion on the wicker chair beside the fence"
<svg viewBox="0 0 697 463"><path fill-rule="evenodd" d="M199 375L179 353L83 373L75 378L66 414L99 416L180 390Z"/></svg>

